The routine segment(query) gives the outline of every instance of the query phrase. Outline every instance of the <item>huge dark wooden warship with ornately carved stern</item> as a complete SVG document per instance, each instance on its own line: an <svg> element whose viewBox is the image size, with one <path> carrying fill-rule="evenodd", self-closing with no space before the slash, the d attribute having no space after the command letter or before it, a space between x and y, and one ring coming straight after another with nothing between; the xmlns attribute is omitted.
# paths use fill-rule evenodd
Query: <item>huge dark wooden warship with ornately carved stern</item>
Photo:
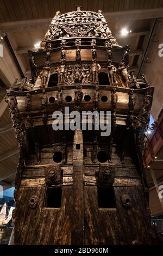
<svg viewBox="0 0 163 256"><path fill-rule="evenodd" d="M102 11L57 11L37 52L32 80L7 92L20 146L15 245L150 243L142 153L154 88L128 74L130 47ZM111 111L111 134L52 128L53 112Z"/></svg>

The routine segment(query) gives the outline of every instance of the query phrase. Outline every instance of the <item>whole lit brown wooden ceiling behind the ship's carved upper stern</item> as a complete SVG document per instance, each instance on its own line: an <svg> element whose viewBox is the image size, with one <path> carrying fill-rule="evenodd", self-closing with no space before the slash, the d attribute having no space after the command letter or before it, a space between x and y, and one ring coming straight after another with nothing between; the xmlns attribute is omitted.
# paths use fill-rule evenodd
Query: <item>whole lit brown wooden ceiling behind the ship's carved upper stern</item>
<svg viewBox="0 0 163 256"><path fill-rule="evenodd" d="M21 60L22 70L26 73L24 75L30 78L27 52L37 50L34 45L43 39L55 12L60 10L62 14L72 11L76 5L82 5L83 10L103 11L118 44L130 45L130 71L135 71L137 75L156 18L160 17L162 1L0 0L0 31L7 34L17 58ZM124 27L131 31L126 36L121 35Z"/></svg>

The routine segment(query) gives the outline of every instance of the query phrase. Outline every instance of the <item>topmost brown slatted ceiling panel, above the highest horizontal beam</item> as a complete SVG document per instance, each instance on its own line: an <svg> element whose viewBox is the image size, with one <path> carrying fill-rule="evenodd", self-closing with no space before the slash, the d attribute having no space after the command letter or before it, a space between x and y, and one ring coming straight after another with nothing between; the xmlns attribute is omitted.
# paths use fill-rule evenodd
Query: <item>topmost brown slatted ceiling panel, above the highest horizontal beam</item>
<svg viewBox="0 0 163 256"><path fill-rule="evenodd" d="M73 11L76 5L82 5L83 10L102 9L105 13L163 7L162 1L159 0L0 0L0 21L45 19L53 17L57 10L61 13Z"/></svg>

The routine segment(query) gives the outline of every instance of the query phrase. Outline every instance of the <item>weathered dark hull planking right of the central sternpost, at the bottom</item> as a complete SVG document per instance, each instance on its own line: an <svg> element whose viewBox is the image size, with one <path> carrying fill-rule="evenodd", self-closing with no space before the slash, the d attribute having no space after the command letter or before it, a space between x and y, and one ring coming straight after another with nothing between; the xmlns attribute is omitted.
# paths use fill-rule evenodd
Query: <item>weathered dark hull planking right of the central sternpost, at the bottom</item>
<svg viewBox="0 0 163 256"><path fill-rule="evenodd" d="M122 206L123 194L131 197L129 209ZM113 210L98 209L96 186L85 186L84 196L85 245L148 244L150 221L140 188L115 187L117 209Z"/></svg>

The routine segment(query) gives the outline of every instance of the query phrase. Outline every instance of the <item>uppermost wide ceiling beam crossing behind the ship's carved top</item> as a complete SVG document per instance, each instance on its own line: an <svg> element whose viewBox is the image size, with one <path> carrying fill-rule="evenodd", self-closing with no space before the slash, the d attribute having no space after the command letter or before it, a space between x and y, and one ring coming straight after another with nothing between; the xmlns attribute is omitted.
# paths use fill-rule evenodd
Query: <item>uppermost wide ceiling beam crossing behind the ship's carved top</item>
<svg viewBox="0 0 163 256"><path fill-rule="evenodd" d="M104 13L106 21L109 22L130 22L133 20L145 20L163 17L163 8L157 9L142 9L142 10L130 10L130 11L114 11L110 13ZM1 32L9 31L22 31L24 29L48 29L49 23L51 23L52 17L48 19L37 19L37 20L25 20L25 21L12 21L12 22L1 22Z"/></svg>

